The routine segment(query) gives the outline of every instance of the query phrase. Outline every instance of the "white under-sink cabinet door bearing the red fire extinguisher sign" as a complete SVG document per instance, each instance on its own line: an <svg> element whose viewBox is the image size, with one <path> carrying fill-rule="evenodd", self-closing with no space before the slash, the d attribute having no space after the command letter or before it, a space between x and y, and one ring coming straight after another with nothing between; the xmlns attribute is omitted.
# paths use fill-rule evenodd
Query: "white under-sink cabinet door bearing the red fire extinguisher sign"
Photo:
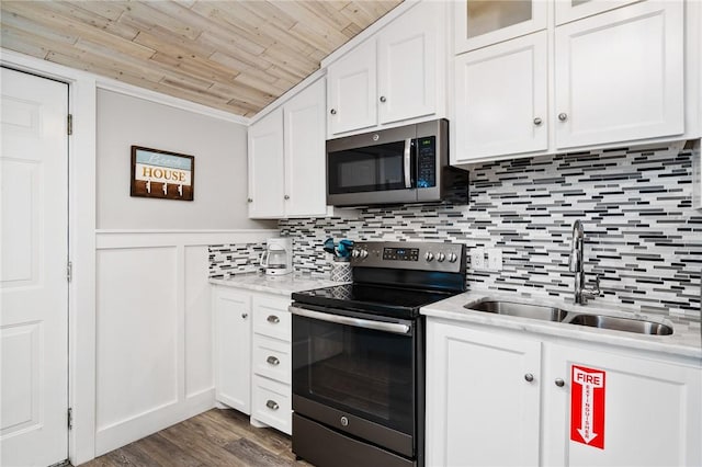
<svg viewBox="0 0 702 467"><path fill-rule="evenodd" d="M544 465L553 466L700 466L702 465L702 371L565 345L546 348L543 381ZM571 441L573 365L603 372L601 446ZM556 379L565 384L557 386ZM577 399L576 399L577 400ZM582 402L585 403L585 402ZM581 407L581 406L580 406ZM576 419L577 420L577 419ZM593 420L591 426L597 426ZM577 421L575 426L578 428ZM592 443L595 444L595 443Z"/></svg>

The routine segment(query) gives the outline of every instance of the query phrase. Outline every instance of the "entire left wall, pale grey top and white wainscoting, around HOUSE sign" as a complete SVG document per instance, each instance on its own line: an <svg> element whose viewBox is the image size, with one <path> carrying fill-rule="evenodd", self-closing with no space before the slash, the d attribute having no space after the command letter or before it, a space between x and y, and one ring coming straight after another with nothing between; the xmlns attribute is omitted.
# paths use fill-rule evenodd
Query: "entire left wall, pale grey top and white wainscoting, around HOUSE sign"
<svg viewBox="0 0 702 467"><path fill-rule="evenodd" d="M99 456L214 406L207 244L276 224L247 217L246 125L98 89L97 128ZM194 201L131 197L132 145L194 156Z"/></svg>

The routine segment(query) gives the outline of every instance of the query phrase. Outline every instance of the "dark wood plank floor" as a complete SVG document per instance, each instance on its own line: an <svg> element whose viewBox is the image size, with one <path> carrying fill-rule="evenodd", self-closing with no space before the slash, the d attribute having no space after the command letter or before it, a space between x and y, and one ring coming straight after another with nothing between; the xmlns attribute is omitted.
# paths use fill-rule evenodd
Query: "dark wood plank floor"
<svg viewBox="0 0 702 467"><path fill-rule="evenodd" d="M257 429L236 410L212 409L127 444L86 467L310 466L295 462L290 436Z"/></svg>

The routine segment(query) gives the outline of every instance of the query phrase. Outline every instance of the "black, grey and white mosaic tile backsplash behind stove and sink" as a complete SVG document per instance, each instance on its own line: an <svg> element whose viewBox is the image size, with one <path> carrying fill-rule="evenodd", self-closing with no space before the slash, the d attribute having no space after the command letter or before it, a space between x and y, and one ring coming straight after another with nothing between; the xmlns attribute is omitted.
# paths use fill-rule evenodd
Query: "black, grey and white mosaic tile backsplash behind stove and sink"
<svg viewBox="0 0 702 467"><path fill-rule="evenodd" d="M467 264L467 286L573 297L571 227L585 227L597 303L700 319L702 212L692 208L692 153L679 147L577 152L477 164L469 203L374 207L355 219L285 219L296 272L327 276L336 240L431 240L499 248L500 272ZM212 257L212 253L211 253Z"/></svg>

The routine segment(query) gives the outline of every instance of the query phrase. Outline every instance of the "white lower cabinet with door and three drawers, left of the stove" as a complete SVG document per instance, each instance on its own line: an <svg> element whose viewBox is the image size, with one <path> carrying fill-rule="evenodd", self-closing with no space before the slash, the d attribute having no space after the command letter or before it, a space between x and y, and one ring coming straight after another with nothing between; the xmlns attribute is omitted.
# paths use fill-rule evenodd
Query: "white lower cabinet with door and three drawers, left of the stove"
<svg viewBox="0 0 702 467"><path fill-rule="evenodd" d="M213 286L213 297L217 401L291 434L290 296Z"/></svg>

